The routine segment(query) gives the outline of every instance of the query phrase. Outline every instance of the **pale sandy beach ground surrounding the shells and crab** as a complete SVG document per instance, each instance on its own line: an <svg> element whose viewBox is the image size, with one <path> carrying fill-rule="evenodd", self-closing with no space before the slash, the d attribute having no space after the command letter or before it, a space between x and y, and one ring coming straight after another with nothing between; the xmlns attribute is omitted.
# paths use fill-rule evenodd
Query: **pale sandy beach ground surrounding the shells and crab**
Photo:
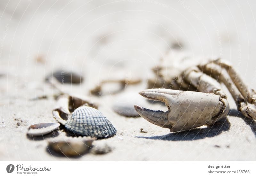
<svg viewBox="0 0 256 177"><path fill-rule="evenodd" d="M125 92L147 88L150 68L178 46L190 56L220 56L233 63L244 81L256 88L255 2L251 1L5 1L0 2L0 159L12 161L254 161L256 122L231 111L220 125L170 133L145 119L112 111ZM84 76L81 85L63 84L68 93L99 102L117 135L99 140L114 150L66 158L47 150L55 132L26 136L34 123L54 122L57 92L44 82L56 69ZM89 94L102 78L119 74L141 78L119 94ZM224 88L225 91L227 91ZM46 95L46 99L33 100ZM131 97L129 102L140 104ZM161 106L160 106L161 107ZM161 109L164 109L163 107ZM140 128L148 133L141 133Z"/></svg>

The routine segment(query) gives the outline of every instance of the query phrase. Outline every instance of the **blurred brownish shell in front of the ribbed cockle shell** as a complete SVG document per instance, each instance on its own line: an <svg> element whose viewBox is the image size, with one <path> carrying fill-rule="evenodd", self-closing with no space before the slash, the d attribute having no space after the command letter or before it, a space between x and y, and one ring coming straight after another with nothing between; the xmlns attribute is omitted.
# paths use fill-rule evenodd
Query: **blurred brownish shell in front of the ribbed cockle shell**
<svg viewBox="0 0 256 177"><path fill-rule="evenodd" d="M48 147L58 154L65 156L81 156L87 153L92 148L92 142L95 138L90 139L70 139L70 140L60 140L57 142L49 142Z"/></svg>

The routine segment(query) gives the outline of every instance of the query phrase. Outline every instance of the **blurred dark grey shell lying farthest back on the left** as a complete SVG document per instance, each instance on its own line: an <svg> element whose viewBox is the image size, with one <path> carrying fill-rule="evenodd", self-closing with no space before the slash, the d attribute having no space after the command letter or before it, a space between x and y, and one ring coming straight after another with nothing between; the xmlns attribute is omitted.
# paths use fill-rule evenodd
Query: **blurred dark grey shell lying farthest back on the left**
<svg viewBox="0 0 256 177"><path fill-rule="evenodd" d="M57 81L60 83L73 83L73 84L79 84L83 82L84 78L74 71L64 71L64 70L58 70L53 72L52 74L49 74L45 80L49 81L51 78L56 78Z"/></svg>

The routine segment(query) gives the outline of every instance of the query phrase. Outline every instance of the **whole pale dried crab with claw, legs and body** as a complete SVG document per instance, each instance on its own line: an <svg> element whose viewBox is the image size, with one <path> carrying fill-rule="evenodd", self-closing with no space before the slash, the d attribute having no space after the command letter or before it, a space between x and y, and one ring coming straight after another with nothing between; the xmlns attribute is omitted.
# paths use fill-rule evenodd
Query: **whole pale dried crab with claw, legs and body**
<svg viewBox="0 0 256 177"><path fill-rule="evenodd" d="M143 118L170 128L171 132L211 125L226 117L229 111L227 96L220 85L224 83L237 109L244 116L256 119L256 92L248 88L228 62L218 58L199 65L185 66L182 62L179 65L181 67L162 65L154 70L156 77L149 81L148 87L160 89L148 89L140 94L164 102L168 111L153 111L135 105Z"/></svg>

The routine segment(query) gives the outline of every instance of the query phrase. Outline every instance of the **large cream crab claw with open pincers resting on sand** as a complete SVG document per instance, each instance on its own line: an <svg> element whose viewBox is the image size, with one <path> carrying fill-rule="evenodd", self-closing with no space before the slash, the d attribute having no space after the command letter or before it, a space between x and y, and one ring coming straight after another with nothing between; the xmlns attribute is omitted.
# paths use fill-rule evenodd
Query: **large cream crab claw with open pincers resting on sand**
<svg viewBox="0 0 256 177"><path fill-rule="evenodd" d="M171 132L189 130L204 124L212 125L225 118L229 111L228 101L219 95L171 89L147 89L140 95L164 102L168 111L154 111L134 105L141 117Z"/></svg>

